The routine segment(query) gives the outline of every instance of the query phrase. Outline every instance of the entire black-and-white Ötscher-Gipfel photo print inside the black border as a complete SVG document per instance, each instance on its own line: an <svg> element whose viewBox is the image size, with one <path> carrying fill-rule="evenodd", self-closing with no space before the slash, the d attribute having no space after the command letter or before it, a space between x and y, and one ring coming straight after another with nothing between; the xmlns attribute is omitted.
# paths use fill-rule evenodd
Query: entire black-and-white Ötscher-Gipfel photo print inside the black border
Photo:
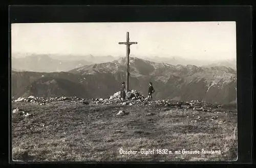
<svg viewBox="0 0 256 168"><path fill-rule="evenodd" d="M13 161L238 159L235 21L10 29Z"/></svg>

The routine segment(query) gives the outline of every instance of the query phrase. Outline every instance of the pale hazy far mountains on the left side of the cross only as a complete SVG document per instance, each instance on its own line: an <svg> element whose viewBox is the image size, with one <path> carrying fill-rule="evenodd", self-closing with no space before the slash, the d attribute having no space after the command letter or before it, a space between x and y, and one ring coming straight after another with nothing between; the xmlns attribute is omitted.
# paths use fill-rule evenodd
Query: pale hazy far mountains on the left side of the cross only
<svg viewBox="0 0 256 168"><path fill-rule="evenodd" d="M59 55L59 54L31 54L25 57L11 58L12 70L32 72L61 72L69 71L85 65L113 61L112 56L94 57L93 55ZM15 57L16 56L16 57Z"/></svg>

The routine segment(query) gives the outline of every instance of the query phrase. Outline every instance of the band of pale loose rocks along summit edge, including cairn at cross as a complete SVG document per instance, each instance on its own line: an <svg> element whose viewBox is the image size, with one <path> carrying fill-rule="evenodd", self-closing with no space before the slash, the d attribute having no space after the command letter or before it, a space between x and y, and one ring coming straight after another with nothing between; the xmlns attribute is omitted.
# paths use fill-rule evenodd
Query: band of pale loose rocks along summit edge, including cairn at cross
<svg viewBox="0 0 256 168"><path fill-rule="evenodd" d="M37 103L38 105L45 105L50 102L55 101L65 101L70 100L72 102L80 102L83 104L103 104L103 105L130 105L130 106L147 106L147 105L156 105L156 106L166 106L169 108L183 109L183 110L197 110L202 112L211 112L216 113L216 111L222 111L221 105L210 104L199 100L191 100L190 102L183 101L174 101L174 100L155 100L148 101L142 94L136 90L132 90L126 93L126 101L120 101L120 92L116 92L114 95L109 98L95 98L95 99L82 99L78 97L52 97L52 98L42 98L42 97L19 97L14 102L31 102ZM14 111L15 113L15 111Z"/></svg>

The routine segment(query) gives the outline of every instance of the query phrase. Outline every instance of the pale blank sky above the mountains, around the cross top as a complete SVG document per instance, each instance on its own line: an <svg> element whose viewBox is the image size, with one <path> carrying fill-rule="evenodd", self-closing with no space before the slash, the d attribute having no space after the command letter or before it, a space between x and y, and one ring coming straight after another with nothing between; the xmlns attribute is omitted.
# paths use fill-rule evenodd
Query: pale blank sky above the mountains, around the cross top
<svg viewBox="0 0 256 168"><path fill-rule="evenodd" d="M236 22L15 23L12 53L125 55L236 59Z"/></svg>

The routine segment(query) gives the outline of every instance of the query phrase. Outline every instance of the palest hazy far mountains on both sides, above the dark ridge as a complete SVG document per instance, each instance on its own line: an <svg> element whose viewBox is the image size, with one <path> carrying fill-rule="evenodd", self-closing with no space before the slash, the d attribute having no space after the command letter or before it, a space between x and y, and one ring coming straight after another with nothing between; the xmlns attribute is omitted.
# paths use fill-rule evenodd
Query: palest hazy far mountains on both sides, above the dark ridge
<svg viewBox="0 0 256 168"><path fill-rule="evenodd" d="M135 57L131 55L131 57ZM12 69L15 71L32 71L32 72L60 72L69 71L85 65L100 64L112 62L120 57L93 56L93 55L60 55L60 54L12 54ZM204 67L225 66L236 70L235 60L225 61L203 61L193 59L183 59L181 57L141 57L156 63L167 63L171 65L196 65Z"/></svg>

